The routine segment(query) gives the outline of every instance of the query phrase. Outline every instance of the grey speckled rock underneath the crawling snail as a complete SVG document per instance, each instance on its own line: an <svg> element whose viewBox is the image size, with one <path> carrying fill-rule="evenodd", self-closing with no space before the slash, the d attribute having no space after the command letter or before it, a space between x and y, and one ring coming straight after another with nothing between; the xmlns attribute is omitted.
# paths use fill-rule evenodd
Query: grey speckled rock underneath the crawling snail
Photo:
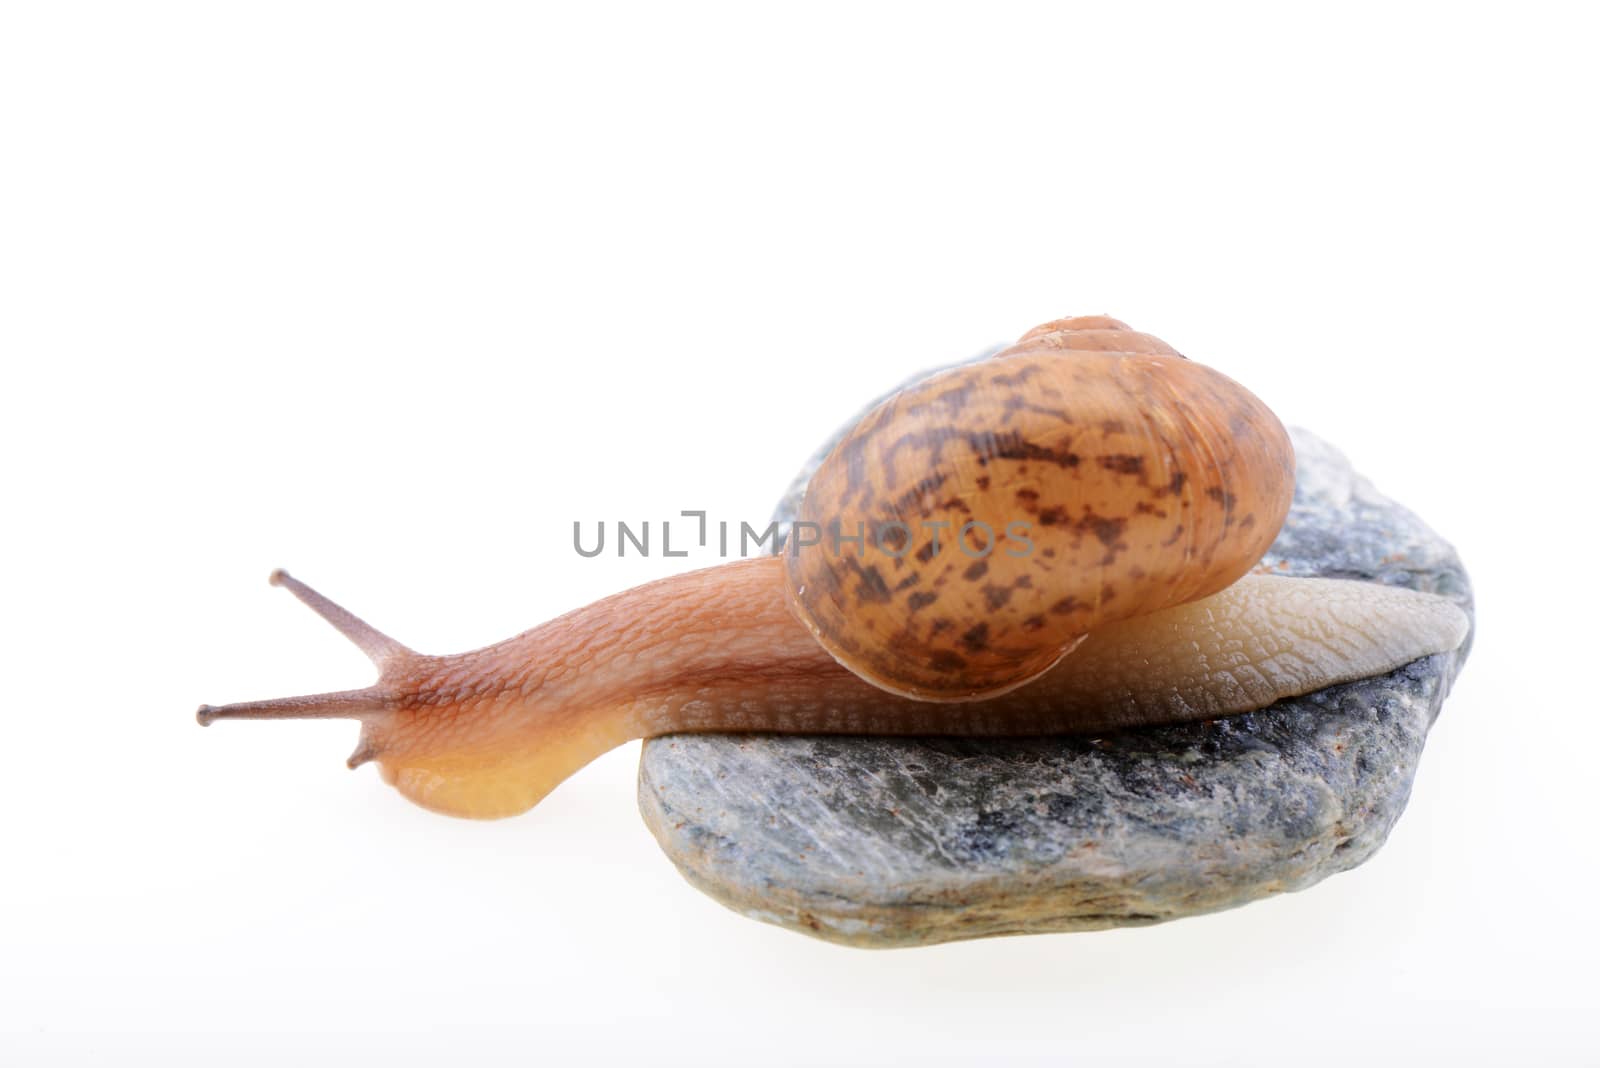
<svg viewBox="0 0 1600 1068"><path fill-rule="evenodd" d="M1470 616L1448 544L1336 449L1293 440L1294 507L1264 566L1442 593ZM1262 711L1106 737L654 739L638 803L696 887L834 942L1160 923L1373 855L1467 648Z"/></svg>

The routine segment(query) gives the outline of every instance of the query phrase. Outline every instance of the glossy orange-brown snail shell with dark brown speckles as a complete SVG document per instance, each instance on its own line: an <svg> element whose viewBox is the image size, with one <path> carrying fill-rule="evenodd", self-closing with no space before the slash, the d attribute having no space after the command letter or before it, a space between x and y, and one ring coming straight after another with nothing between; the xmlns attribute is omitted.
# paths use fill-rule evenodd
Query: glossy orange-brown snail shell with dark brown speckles
<svg viewBox="0 0 1600 1068"><path fill-rule="evenodd" d="M819 540L786 550L790 604L886 691L1000 694L1106 622L1250 571L1288 513L1293 460L1259 400L1160 339L1106 317L1046 323L840 441L800 505L797 531Z"/></svg>

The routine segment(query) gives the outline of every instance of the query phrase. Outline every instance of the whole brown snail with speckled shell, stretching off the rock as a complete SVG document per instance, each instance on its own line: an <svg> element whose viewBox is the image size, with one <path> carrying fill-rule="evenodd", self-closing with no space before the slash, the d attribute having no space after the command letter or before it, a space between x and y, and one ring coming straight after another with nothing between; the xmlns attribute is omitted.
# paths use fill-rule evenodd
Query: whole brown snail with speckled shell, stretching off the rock
<svg viewBox="0 0 1600 1068"><path fill-rule="evenodd" d="M1467 619L1445 598L1253 572L1293 472L1288 435L1242 385L1117 320L1056 320L869 412L771 556L453 656L277 571L378 681L198 719L358 719L350 767L376 761L411 801L491 819L638 737L1107 732L1459 646Z"/></svg>

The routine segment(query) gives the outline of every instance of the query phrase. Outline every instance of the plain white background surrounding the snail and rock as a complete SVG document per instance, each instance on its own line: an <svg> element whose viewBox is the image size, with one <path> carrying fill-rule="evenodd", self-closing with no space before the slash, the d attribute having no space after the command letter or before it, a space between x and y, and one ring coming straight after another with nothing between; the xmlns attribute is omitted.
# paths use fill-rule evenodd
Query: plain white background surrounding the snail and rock
<svg viewBox="0 0 1600 1068"><path fill-rule="evenodd" d="M0 8L13 1063L1594 1063L1581 6ZM864 953L691 891L637 743L430 815L291 568L424 651L706 558L861 401L1109 312L1454 540L1472 662L1365 867Z"/></svg>

